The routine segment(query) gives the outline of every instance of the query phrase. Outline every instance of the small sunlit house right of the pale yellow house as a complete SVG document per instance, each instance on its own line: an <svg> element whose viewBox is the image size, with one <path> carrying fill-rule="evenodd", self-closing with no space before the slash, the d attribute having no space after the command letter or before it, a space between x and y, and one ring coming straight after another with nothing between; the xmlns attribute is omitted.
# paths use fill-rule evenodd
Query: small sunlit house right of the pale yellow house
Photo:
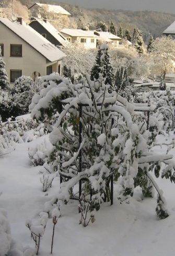
<svg viewBox="0 0 175 256"><path fill-rule="evenodd" d="M112 46L113 48L123 48L124 45L121 44L122 38L115 36L109 32L103 32L103 31L94 31L94 34L98 36L98 42L99 44L101 42L107 42L109 46Z"/></svg>

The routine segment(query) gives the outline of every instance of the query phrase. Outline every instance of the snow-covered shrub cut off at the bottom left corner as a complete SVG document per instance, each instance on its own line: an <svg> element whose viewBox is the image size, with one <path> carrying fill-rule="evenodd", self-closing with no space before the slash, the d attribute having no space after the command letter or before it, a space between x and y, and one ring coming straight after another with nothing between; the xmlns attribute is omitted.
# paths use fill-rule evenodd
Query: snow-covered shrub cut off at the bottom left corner
<svg viewBox="0 0 175 256"><path fill-rule="evenodd" d="M0 256L5 256L10 249L10 226L5 210L0 209Z"/></svg>

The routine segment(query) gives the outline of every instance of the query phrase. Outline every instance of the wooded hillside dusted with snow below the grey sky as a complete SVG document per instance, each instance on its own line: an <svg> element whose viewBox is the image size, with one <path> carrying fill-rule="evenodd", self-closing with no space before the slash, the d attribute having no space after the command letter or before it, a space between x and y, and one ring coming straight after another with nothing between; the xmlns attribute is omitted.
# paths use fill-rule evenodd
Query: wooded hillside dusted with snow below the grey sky
<svg viewBox="0 0 175 256"><path fill-rule="evenodd" d="M20 0L20 2L28 7L35 3L33 0ZM105 22L113 20L117 27L127 28L131 33L134 27L138 27L143 31L144 40L146 41L150 34L155 37L161 36L162 31L175 20L175 14L147 10L132 12L128 10L85 9L52 0L42 0L41 2L64 7L72 14L70 24L73 27L81 28L81 26L88 24L90 28L95 28L100 20Z"/></svg>

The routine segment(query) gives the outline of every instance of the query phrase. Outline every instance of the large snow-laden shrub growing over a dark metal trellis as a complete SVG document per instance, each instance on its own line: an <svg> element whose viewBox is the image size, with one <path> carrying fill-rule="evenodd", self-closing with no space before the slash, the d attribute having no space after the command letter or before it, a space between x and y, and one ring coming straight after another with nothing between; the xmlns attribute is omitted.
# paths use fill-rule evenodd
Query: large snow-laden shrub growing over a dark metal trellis
<svg viewBox="0 0 175 256"><path fill-rule="evenodd" d="M141 106L142 110L151 110L153 106L127 102L115 91L108 90L109 85L101 75L97 81L91 81L87 75L81 84L72 84L57 74L42 80L46 88L33 97L31 114L47 121L60 113L50 133L54 147L49 161L64 180L59 194L48 202L49 207L52 208L55 201L69 200L73 187L83 179L83 190L91 190L91 205L98 210L103 200L110 200L112 175L118 180L120 200L129 200L136 186L142 187L145 196L153 196L153 187L157 191L159 188L150 172L156 168L160 173L160 162L169 164L163 171L167 178L175 181L172 156L154 155L150 151L151 132L134 111ZM60 101L64 102L62 108ZM82 112L80 104L86 104ZM79 126L82 129L80 143ZM159 196L162 204L159 200L161 210L157 214L163 218L167 216L165 201L161 193Z"/></svg>

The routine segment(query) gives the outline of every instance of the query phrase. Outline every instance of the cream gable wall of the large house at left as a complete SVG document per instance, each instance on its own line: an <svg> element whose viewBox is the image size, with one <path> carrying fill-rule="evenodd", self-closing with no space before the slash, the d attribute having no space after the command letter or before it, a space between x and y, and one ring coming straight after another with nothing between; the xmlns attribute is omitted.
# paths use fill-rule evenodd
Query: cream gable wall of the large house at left
<svg viewBox="0 0 175 256"><path fill-rule="evenodd" d="M13 31L0 23L0 44L4 44L4 57L6 71L10 80L10 69L22 70L22 75L32 76L37 71L41 76L46 74L46 59L34 50ZM10 57L10 44L22 45L22 57Z"/></svg>

